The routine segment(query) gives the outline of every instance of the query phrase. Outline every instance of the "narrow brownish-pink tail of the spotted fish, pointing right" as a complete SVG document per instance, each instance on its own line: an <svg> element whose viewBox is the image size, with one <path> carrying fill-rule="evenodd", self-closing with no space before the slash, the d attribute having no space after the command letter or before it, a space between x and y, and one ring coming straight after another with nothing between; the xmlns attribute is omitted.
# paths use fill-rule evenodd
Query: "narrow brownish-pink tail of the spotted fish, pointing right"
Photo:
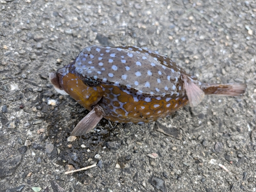
<svg viewBox="0 0 256 192"><path fill-rule="evenodd" d="M222 96L239 96L245 92L246 87L247 85L243 83L204 83L201 85L204 94L218 94Z"/></svg>

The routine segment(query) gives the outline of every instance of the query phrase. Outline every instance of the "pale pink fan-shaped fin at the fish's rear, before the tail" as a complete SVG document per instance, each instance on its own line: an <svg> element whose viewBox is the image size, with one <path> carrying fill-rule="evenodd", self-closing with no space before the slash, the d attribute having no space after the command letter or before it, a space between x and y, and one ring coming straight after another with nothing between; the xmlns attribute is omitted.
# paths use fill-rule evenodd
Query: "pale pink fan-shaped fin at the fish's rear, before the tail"
<svg viewBox="0 0 256 192"><path fill-rule="evenodd" d="M193 83L186 75L182 75L182 79L184 81L190 107L199 105L204 98L204 91Z"/></svg>

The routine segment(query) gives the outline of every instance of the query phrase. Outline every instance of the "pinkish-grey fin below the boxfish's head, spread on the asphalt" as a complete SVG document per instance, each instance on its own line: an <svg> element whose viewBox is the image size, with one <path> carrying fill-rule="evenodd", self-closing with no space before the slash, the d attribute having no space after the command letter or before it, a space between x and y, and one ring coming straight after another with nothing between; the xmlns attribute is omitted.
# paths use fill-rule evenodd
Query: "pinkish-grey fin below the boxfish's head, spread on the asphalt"
<svg viewBox="0 0 256 192"><path fill-rule="evenodd" d="M103 109L99 105L95 105L94 108L76 125L75 129L71 133L71 136L81 136L87 134L97 126L104 115L105 112Z"/></svg>

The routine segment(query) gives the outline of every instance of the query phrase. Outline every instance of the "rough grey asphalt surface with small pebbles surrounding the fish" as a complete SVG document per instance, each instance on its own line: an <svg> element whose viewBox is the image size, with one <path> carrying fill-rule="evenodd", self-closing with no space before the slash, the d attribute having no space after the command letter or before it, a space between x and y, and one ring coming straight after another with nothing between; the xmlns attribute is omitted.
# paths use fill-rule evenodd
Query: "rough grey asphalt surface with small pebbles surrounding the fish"
<svg viewBox="0 0 256 192"><path fill-rule="evenodd" d="M256 191L255 2L102 2L0 1L0 191ZM155 124L102 120L70 142L88 111L48 75L92 44L146 46L203 82L247 90Z"/></svg>

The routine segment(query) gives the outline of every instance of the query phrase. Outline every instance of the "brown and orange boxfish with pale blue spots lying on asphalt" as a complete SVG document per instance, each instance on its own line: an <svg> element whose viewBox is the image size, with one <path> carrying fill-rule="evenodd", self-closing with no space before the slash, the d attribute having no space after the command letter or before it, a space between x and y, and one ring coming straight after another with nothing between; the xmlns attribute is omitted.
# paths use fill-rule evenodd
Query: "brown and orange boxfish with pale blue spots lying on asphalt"
<svg viewBox="0 0 256 192"><path fill-rule="evenodd" d="M70 95L90 112L72 131L81 136L102 118L144 124L169 116L207 94L241 95L243 83L202 83L176 62L146 47L85 47L68 65L49 75L56 91Z"/></svg>

